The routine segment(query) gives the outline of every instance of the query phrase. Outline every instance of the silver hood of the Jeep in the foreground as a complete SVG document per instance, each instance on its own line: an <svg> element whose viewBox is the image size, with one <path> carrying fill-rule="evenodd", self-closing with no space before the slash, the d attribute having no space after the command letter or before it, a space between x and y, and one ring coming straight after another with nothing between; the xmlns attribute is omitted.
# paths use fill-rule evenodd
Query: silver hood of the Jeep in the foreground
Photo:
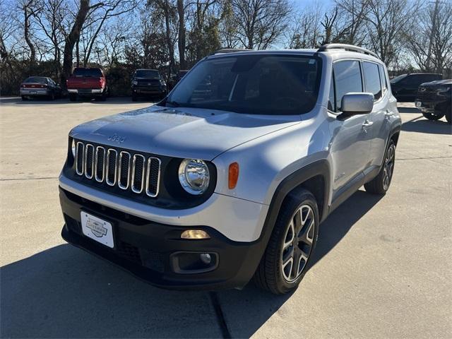
<svg viewBox="0 0 452 339"><path fill-rule="evenodd" d="M299 123L299 116L152 106L81 124L70 135L156 155L212 160L234 146Z"/></svg>

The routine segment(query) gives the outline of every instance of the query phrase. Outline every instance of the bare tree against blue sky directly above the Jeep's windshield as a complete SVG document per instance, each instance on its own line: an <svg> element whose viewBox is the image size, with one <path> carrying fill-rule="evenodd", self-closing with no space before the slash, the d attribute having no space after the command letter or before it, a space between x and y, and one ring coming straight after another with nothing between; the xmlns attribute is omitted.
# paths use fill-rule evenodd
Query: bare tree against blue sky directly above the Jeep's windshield
<svg viewBox="0 0 452 339"><path fill-rule="evenodd" d="M237 38L249 49L266 49L287 28L287 0L232 0Z"/></svg>

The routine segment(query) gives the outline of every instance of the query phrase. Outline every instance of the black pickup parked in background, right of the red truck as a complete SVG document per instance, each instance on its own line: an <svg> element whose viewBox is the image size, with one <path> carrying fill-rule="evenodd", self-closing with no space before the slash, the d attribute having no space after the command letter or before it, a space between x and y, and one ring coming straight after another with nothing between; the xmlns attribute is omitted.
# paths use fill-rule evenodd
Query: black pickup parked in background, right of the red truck
<svg viewBox="0 0 452 339"><path fill-rule="evenodd" d="M132 78L132 100L138 97L165 97L167 84L156 69L137 69Z"/></svg>

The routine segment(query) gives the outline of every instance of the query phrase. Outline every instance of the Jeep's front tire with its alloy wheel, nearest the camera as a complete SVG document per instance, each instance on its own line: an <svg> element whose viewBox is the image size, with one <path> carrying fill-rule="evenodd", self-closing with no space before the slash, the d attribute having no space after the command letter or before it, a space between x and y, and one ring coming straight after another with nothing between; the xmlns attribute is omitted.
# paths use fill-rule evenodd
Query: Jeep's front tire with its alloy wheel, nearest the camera
<svg viewBox="0 0 452 339"><path fill-rule="evenodd" d="M302 235L295 237L297 233ZM254 283L275 295L295 290L307 272L318 234L316 198L306 189L292 191L280 209L266 251L254 273ZM294 261L298 261L298 266Z"/></svg>

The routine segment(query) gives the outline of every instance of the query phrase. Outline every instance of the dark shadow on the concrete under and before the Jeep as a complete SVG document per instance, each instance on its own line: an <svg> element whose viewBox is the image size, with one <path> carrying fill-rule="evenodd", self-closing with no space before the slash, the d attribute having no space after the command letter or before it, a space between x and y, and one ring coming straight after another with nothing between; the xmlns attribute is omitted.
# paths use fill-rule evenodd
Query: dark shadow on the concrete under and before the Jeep
<svg viewBox="0 0 452 339"><path fill-rule="evenodd" d="M335 210L321 225L311 266L380 198L358 191ZM252 283L215 292L218 319L208 292L157 289L68 244L2 267L0 283L6 338L218 338L228 329L248 338L291 297Z"/></svg>

